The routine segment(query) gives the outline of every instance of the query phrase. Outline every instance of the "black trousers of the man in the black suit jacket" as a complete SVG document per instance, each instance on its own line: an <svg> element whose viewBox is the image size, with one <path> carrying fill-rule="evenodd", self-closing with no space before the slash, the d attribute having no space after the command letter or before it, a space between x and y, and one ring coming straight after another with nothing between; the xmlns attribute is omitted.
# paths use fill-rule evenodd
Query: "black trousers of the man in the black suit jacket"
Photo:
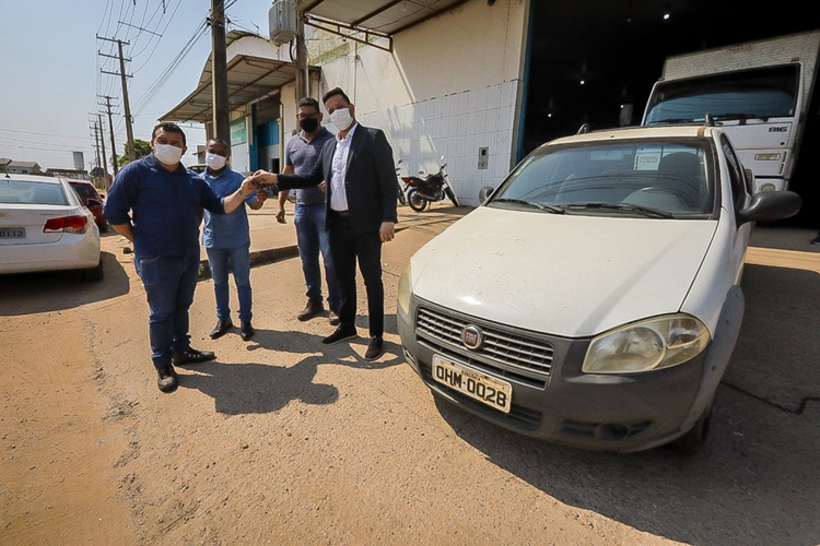
<svg viewBox="0 0 820 546"><path fill-rule="evenodd" d="M358 234L350 227L347 215L333 214L329 230L330 254L336 277L339 280L341 307L339 328L355 329L356 318L356 261L367 290L370 334L383 335L385 331L385 287L382 283L382 238L378 232Z"/></svg>

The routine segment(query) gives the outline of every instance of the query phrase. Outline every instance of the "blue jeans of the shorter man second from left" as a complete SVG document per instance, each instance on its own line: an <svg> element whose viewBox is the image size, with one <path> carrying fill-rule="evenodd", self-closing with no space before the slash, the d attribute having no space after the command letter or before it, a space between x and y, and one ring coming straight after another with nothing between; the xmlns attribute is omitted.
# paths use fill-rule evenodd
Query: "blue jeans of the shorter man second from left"
<svg viewBox="0 0 820 546"><path fill-rule="evenodd" d="M239 296L239 320L242 322L250 322L249 248L249 245L232 248L206 248L208 263L211 266L211 276L213 276L213 292L216 293L216 317L222 320L231 318L227 273L229 271L233 271L236 292Z"/></svg>

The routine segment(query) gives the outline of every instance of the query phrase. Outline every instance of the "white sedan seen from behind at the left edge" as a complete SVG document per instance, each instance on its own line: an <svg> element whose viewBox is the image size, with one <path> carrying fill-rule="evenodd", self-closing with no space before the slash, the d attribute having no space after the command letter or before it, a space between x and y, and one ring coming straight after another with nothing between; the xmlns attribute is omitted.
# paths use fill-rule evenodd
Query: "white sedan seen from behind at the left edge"
<svg viewBox="0 0 820 546"><path fill-rule="evenodd" d="M103 278L94 215L62 179L0 178L0 274L79 270Z"/></svg>

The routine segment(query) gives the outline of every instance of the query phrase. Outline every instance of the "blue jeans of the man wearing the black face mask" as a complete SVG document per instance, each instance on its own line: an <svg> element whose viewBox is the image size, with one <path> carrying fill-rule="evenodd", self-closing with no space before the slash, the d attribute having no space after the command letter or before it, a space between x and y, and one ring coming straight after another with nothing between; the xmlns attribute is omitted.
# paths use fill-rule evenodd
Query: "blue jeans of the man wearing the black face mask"
<svg viewBox="0 0 820 546"><path fill-rule="evenodd" d="M338 309L341 304L339 296L339 281L336 278L333 259L330 257L330 242L325 230L325 203L296 204L293 213L296 226L296 244L302 259L302 273L307 285L307 299L321 302L321 271L319 269L319 252L325 262L325 280L327 282L327 302Z"/></svg>

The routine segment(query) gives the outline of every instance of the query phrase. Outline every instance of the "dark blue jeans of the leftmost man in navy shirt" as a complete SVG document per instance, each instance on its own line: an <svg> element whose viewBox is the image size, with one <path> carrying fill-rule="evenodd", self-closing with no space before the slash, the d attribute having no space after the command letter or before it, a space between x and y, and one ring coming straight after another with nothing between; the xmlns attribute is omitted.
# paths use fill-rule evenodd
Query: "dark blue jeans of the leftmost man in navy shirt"
<svg viewBox="0 0 820 546"><path fill-rule="evenodd" d="M188 309L194 302L199 274L199 256L137 254L133 260L148 297L151 360L168 366L174 352L190 346Z"/></svg>

